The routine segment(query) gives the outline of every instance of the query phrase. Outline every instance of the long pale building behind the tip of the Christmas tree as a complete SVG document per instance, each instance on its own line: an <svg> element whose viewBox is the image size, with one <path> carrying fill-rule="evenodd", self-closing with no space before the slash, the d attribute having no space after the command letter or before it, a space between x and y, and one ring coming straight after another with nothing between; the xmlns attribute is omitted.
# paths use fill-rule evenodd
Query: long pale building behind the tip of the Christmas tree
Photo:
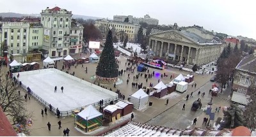
<svg viewBox="0 0 256 137"><path fill-rule="evenodd" d="M131 24L129 22L117 22L105 19L95 20L95 26L103 34L102 38L106 38L106 34L108 34L108 29L111 26L112 30L116 33L124 32L126 36L128 36L128 41L136 41L136 34L140 29L140 25L138 24ZM115 35L115 32L113 35Z"/></svg>

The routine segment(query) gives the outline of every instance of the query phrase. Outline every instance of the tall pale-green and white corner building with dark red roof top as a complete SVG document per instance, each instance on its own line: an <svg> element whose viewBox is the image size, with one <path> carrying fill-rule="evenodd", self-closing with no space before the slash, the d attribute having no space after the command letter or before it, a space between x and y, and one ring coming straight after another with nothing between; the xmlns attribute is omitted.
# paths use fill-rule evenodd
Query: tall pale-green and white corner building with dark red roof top
<svg viewBox="0 0 256 137"><path fill-rule="evenodd" d="M43 49L50 57L62 57L69 54L69 40L72 11L58 6L42 10L41 24L44 25Z"/></svg>

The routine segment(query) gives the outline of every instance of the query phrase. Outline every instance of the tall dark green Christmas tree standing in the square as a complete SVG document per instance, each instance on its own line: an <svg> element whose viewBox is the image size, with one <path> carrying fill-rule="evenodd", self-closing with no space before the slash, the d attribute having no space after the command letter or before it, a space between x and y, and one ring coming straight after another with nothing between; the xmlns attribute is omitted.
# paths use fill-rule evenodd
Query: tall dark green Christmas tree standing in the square
<svg viewBox="0 0 256 137"><path fill-rule="evenodd" d="M111 29L109 29L105 47L100 55L100 61L96 69L96 76L97 80L101 80L102 82L116 82L117 80L118 65L115 61L115 49L113 47Z"/></svg>

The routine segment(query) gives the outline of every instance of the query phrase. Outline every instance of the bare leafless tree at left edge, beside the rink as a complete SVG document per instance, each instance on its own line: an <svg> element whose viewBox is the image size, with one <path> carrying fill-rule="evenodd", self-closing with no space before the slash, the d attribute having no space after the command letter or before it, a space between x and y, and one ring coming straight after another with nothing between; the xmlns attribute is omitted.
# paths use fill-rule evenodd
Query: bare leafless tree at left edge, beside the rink
<svg viewBox="0 0 256 137"><path fill-rule="evenodd" d="M33 117L33 113L26 109L24 97L19 95L19 90L22 89L19 84L13 82L13 79L8 78L8 75L1 75L0 106L3 108L3 112L12 120L12 125L22 124L24 126L22 133L26 134L28 133L27 120Z"/></svg>

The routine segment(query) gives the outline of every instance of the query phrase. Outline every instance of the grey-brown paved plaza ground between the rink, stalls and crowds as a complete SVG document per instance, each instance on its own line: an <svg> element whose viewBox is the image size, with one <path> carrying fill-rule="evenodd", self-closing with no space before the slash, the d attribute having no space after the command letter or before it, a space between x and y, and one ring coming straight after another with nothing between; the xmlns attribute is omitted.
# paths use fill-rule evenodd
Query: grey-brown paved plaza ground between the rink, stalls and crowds
<svg viewBox="0 0 256 137"><path fill-rule="evenodd" d="M83 54L83 57L86 56L88 57L89 55ZM80 55L72 55L74 59L76 57L80 57ZM121 63L119 64L120 68L119 69L126 69L125 62L127 60L126 57L120 55L120 57L117 57L118 61ZM61 69L63 65L63 61L58 61L58 69ZM40 62L40 66L42 67L42 62ZM84 80L93 83L94 80L92 79L92 76L95 75L95 70L97 67L97 63L89 63L89 64L84 64L84 68L88 68L88 73L85 73L84 68L82 68L81 64L75 68L74 66L71 66L71 69L69 70L69 73L73 73L73 71L76 73L75 76L78 78L84 78ZM3 73L7 72L7 68L3 68L1 72ZM67 71L67 69L64 69L64 71ZM160 81L163 81L163 83L168 83L172 80L170 80L170 75L175 75L178 76L180 73L182 75L188 75L189 72L187 71L179 71L178 69L175 68L170 68L170 69L164 69L164 70L158 70L158 69L152 69L149 68L149 73L152 73L152 71L158 72L158 73L166 73L168 75L167 77L155 77L153 76L152 78L148 79L148 82L146 82L146 79L144 76L140 77L138 80L138 83L143 83L143 86L149 85L149 83L153 83L154 85L157 84L157 81L160 79ZM126 84L127 80L127 75L130 73L130 79L129 79L129 84ZM116 89L120 89L120 92L125 95L125 99L127 99L128 96L136 92L138 89L133 89L131 86L131 83L133 82L133 76L136 75L138 72L134 71L134 73L131 72L126 72L125 75L120 76L124 83L120 85L116 85ZM206 105L207 102L211 99L208 96L209 89L211 89L211 84L212 82L209 82L209 79L212 77L212 75L197 75L195 74L195 83L196 83L196 88L191 87L191 83L188 86L188 90L184 93L181 94L180 96L177 96L175 98L170 98L169 99L169 104L164 105L166 103L166 99L157 99L154 97L149 97L149 101L152 101L153 105L148 107L147 110L145 111L138 111L138 110L133 110L134 112L134 121L136 122L148 122L148 124L152 125L159 125L159 126L167 126L167 127L177 127L177 128L186 128L188 126L191 126L191 122L195 117L199 117L199 119L204 118L204 112L202 110L197 110L196 112L191 112L190 108L197 99L197 91L201 90L201 92L204 90L205 92L205 97L200 97L202 99L202 108ZM137 81L136 81L137 82ZM114 89L113 85L104 85L105 87L108 87L113 89L113 91L116 91ZM194 97L192 99L189 99L189 101L180 101L184 99L184 97L187 94L190 94L190 92L195 92ZM24 94L24 93L22 93ZM182 105L186 103L186 110L182 112ZM214 97L213 99L213 107L217 106L224 106L227 105L227 101L223 99L219 99L218 97ZM216 104L215 104L216 103ZM58 129L58 119L56 116L53 114L47 115L45 117L42 117L41 115L41 109L44 108L44 106L40 105L37 101L34 99L31 99L27 102L28 110L34 113L33 117L33 126L31 126L31 136L63 136L63 129L67 128L70 129L70 136L92 136L92 134L82 134L79 131L77 131L74 128L74 117L62 117L61 122L63 123L62 129ZM164 112L164 113L163 113ZM161 114L162 113L162 114ZM221 115L219 112L217 115ZM158 116L157 116L158 115ZM157 116L157 117L156 117ZM203 117L203 118L202 118ZM217 116L216 116L217 117ZM152 119L152 120L151 120ZM47 129L47 122L50 122L52 124L52 130L48 131ZM202 122L198 120L198 124L196 124L195 127L202 127Z"/></svg>

